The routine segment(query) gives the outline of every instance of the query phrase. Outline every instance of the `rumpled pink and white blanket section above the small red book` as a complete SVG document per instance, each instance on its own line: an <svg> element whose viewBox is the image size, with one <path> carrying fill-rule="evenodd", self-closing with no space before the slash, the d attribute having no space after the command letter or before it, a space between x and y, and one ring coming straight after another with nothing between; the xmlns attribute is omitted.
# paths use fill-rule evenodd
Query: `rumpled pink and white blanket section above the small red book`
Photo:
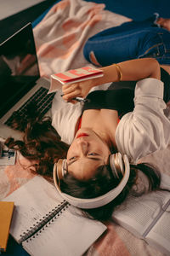
<svg viewBox="0 0 170 256"><path fill-rule="evenodd" d="M42 76L89 65L82 55L95 33L130 20L105 10L105 4L64 0L54 5L34 29Z"/></svg>

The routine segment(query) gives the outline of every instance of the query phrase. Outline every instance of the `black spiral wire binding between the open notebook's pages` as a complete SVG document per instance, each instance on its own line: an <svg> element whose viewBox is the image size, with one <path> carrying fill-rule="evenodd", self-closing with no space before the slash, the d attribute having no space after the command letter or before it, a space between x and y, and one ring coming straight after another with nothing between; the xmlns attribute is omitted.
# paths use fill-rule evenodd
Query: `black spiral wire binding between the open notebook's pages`
<svg viewBox="0 0 170 256"><path fill-rule="evenodd" d="M27 232L23 232L22 235L20 235L19 243L22 241L25 241L26 239L30 238L31 236L35 235L35 233L38 234L38 232L43 229L45 225L50 224L50 220L54 221L53 218L56 218L56 216L59 216L61 214L62 210L65 211L65 208L69 207L70 204L67 201L62 201L58 206L54 207L50 212L48 212L45 216L37 220L37 224L33 224L27 230ZM33 236L34 237L34 236ZM31 239L31 238L30 238Z"/></svg>

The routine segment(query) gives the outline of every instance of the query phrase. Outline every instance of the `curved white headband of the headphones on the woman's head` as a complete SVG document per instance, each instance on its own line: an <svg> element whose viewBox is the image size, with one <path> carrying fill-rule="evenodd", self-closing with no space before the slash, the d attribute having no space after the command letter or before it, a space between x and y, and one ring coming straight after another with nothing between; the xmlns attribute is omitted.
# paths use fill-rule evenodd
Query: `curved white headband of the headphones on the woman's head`
<svg viewBox="0 0 170 256"><path fill-rule="evenodd" d="M121 154L120 154L121 155ZM122 155L121 155L122 157ZM119 157L120 158L120 157ZM59 188L59 174L58 173L58 163L54 164L54 184L56 189L59 192L59 195L61 195L66 201L68 201L72 206L82 208L82 209L92 209L92 208L98 208L103 207L112 200L116 198L117 195L119 195L122 192L122 189L127 184L128 177L130 175L130 166L129 161L127 159L127 155L124 155L122 157L123 166L125 166L125 169L123 172L123 177L121 182L116 186L116 188L111 189L109 192L107 192L105 195L100 195L95 198L90 199L82 199L77 198L68 194L63 193ZM57 181L58 178L58 181Z"/></svg>

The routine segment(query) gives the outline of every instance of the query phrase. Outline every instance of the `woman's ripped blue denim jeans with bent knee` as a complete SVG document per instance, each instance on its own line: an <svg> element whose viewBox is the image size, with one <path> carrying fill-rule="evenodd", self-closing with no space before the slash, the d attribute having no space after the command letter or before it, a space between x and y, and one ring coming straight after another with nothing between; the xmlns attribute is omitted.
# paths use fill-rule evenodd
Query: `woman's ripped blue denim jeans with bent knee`
<svg viewBox="0 0 170 256"><path fill-rule="evenodd" d="M170 64L170 32L154 24L156 16L111 27L89 38L83 54L87 61L93 53L101 66L137 58L153 57Z"/></svg>

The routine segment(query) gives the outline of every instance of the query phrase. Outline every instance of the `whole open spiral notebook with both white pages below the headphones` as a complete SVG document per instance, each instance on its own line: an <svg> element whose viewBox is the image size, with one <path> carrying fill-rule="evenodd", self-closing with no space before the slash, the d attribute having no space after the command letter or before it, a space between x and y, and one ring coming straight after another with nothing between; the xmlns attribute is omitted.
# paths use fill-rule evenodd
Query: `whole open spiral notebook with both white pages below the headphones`
<svg viewBox="0 0 170 256"><path fill-rule="evenodd" d="M8 195L14 201L10 234L33 256L79 256L106 230L104 224L82 217L63 201L53 184L43 177Z"/></svg>

